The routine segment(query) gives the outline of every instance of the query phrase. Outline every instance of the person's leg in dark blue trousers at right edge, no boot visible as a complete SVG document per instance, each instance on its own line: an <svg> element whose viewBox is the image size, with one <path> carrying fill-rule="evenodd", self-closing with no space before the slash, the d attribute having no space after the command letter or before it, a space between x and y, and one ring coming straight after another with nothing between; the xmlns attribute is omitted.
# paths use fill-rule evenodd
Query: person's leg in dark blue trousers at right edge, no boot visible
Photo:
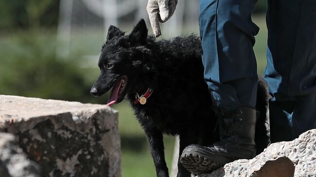
<svg viewBox="0 0 316 177"><path fill-rule="evenodd" d="M268 0L264 79L273 97L269 105L272 143L293 140L313 125L310 113L315 113L316 104L307 98L313 99L310 96L316 93L315 7L312 0Z"/></svg>

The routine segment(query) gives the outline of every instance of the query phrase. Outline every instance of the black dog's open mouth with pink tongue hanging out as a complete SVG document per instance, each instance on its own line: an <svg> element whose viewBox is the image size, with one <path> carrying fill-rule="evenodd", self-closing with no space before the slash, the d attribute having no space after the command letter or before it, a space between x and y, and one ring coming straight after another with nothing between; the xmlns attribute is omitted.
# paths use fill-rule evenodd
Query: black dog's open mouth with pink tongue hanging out
<svg viewBox="0 0 316 177"><path fill-rule="evenodd" d="M124 90L127 85L127 76L120 78L112 87L110 97L106 103L107 106L111 106L114 103L119 103L124 98Z"/></svg>

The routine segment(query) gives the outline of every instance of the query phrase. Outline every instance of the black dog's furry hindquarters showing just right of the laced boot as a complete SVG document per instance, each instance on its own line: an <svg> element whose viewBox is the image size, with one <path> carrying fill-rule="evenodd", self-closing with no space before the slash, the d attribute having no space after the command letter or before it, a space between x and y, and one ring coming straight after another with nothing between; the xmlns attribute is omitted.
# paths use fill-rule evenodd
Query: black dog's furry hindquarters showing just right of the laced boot
<svg viewBox="0 0 316 177"><path fill-rule="evenodd" d="M260 112L256 123L255 142L257 154L263 152L270 144L270 128L269 128L269 93L268 84L262 78L259 79L257 91L256 108Z"/></svg>

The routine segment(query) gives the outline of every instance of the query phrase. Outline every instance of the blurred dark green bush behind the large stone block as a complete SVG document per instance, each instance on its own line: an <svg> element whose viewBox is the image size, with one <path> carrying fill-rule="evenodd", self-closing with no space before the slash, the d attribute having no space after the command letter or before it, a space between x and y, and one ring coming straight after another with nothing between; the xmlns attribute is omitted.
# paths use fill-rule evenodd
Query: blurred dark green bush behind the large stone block
<svg viewBox="0 0 316 177"><path fill-rule="evenodd" d="M100 102L89 94L93 81L85 79L87 72L76 55L56 59L55 35L40 33L1 38L0 94Z"/></svg>

